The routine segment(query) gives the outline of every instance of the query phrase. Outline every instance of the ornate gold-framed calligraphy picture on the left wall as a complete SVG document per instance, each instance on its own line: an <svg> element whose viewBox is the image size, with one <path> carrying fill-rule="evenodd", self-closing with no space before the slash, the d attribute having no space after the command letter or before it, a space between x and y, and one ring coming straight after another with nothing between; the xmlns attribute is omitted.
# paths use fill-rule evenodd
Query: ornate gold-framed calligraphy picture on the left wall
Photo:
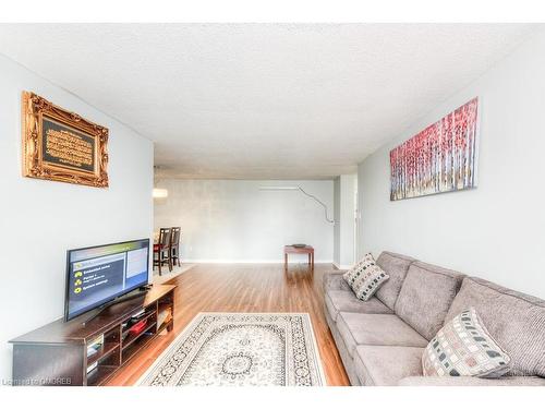
<svg viewBox="0 0 545 409"><path fill-rule="evenodd" d="M108 129L23 92L23 176L108 187Z"/></svg>

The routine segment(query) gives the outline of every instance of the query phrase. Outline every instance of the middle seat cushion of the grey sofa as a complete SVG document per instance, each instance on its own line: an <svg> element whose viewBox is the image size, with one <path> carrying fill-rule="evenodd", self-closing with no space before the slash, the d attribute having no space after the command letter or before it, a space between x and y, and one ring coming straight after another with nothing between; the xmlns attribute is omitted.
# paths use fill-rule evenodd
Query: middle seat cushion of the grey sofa
<svg viewBox="0 0 545 409"><path fill-rule="evenodd" d="M360 314L340 312L337 329L352 357L359 345L421 347L427 340L393 314Z"/></svg>

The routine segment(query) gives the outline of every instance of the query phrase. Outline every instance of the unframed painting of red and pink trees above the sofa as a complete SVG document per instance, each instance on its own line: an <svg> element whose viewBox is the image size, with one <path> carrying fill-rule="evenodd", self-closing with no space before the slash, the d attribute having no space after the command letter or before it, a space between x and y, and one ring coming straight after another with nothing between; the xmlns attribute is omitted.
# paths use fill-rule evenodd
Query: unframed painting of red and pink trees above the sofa
<svg viewBox="0 0 545 409"><path fill-rule="evenodd" d="M390 152L390 200L476 187L479 99L473 98Z"/></svg>

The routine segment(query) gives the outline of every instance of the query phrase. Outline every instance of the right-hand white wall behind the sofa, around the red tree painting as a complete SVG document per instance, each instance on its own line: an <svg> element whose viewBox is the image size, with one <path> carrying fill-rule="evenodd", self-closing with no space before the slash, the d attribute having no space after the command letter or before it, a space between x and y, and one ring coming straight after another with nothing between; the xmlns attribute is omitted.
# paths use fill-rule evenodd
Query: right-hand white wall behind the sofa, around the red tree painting
<svg viewBox="0 0 545 409"><path fill-rule="evenodd" d="M545 33L359 167L360 253L391 250L545 298ZM389 201L389 151L479 96L473 191Z"/></svg>

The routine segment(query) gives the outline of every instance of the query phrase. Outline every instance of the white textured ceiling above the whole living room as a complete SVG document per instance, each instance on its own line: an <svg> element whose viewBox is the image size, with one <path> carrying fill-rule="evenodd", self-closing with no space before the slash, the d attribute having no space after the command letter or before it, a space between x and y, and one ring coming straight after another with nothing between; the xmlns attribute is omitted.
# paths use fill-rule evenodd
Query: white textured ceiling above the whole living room
<svg viewBox="0 0 545 409"><path fill-rule="evenodd" d="M154 141L162 173L327 179L354 171L534 29L0 24L0 52Z"/></svg>

